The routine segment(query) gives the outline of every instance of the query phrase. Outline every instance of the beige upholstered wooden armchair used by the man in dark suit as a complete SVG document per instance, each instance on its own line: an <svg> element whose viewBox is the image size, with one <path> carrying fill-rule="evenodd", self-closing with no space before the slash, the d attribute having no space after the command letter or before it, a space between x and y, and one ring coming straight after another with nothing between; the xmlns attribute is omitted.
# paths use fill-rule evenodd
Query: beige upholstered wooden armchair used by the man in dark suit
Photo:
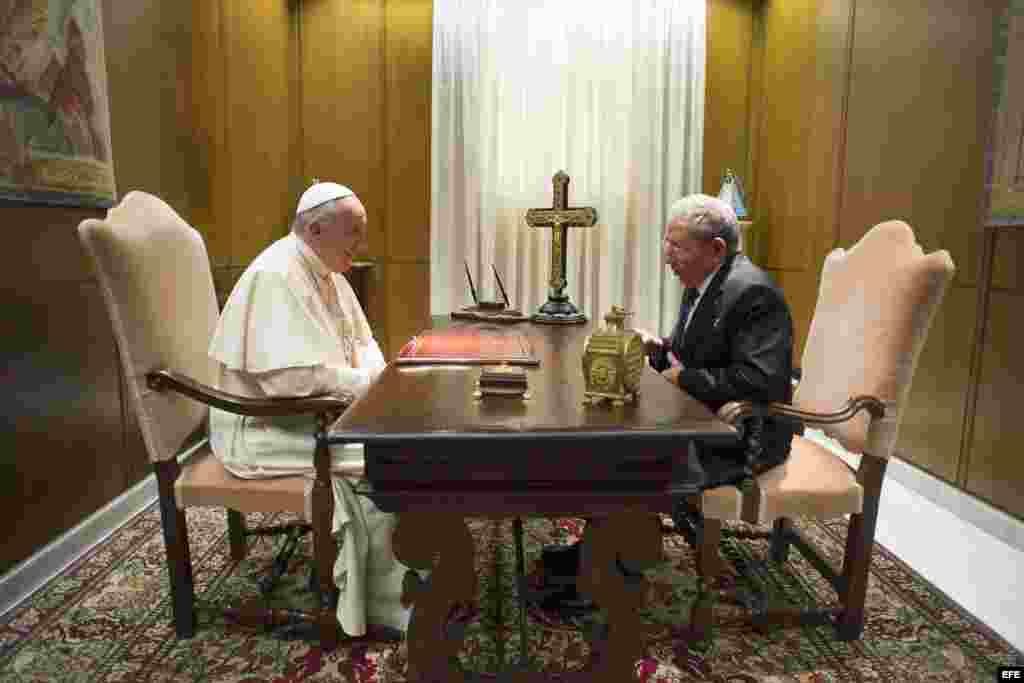
<svg viewBox="0 0 1024 683"><path fill-rule="evenodd" d="M737 426L769 413L794 417L820 425L848 452L862 454L854 470L821 445L795 436L788 460L756 477L738 499L734 486L705 494L706 501L729 501L722 510L708 511L705 504L698 563L711 572L706 580L720 567L721 519L735 518L731 506L738 500L742 520L773 528L737 536L771 538L770 558L776 562L796 546L839 596L838 604L823 609L759 607L756 625L831 623L839 638L860 637L886 464L921 349L953 270L948 252L924 254L902 221L876 225L850 250L834 250L822 268L793 405L733 402L719 412ZM791 518L798 515L850 515L839 573L794 527Z"/></svg>

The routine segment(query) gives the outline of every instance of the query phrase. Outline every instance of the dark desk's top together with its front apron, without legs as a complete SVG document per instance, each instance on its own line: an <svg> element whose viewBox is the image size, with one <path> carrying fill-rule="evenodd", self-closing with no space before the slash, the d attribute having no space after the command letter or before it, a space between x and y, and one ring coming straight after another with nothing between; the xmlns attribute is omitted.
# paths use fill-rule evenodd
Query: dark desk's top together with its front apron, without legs
<svg viewBox="0 0 1024 683"><path fill-rule="evenodd" d="M460 325L481 325L468 323ZM480 367L389 366L331 429L365 445L366 492L388 512L613 514L670 510L697 490L692 445L738 435L702 403L644 369L635 403L585 405L591 326L519 324L540 367L529 398L473 397Z"/></svg>

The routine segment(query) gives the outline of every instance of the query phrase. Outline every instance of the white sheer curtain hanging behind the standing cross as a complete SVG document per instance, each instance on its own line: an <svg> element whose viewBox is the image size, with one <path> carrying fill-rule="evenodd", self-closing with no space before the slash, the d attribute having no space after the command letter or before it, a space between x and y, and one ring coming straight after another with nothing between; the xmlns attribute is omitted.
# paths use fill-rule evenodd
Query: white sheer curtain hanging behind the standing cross
<svg viewBox="0 0 1024 683"><path fill-rule="evenodd" d="M662 265L669 207L699 191L706 0L434 0L431 313L547 300L551 176L598 224L568 233L566 293L667 334L681 287Z"/></svg>

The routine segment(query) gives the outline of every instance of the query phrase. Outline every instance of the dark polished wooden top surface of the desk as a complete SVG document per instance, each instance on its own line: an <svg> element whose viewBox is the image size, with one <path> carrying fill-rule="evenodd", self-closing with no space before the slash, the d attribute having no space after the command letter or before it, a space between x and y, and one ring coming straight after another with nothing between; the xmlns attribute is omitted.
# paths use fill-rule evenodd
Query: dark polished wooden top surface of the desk
<svg viewBox="0 0 1024 683"><path fill-rule="evenodd" d="M474 323L459 325L479 325ZM583 350L594 324L519 324L541 360L526 369L529 397L473 397L480 367L390 365L331 430L331 441L508 438L698 438L734 443L736 431L702 403L644 368L640 396L623 407L584 404Z"/></svg>

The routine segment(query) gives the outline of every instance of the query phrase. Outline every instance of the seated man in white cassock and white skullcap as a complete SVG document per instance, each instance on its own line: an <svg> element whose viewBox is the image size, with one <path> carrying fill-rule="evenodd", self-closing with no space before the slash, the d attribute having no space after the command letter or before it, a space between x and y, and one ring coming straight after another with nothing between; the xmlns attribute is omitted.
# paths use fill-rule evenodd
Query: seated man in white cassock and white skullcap
<svg viewBox="0 0 1024 683"><path fill-rule="evenodd" d="M367 212L347 187L321 182L299 200L292 232L266 248L231 291L210 344L219 387L257 397L329 392L357 398L384 370L384 356L348 281L367 238ZM210 412L214 455L240 477L313 477L315 421ZM349 636L367 624L406 630L399 601L408 567L391 549L397 518L352 484L362 476L362 445L331 446L334 468L335 584L338 622Z"/></svg>

